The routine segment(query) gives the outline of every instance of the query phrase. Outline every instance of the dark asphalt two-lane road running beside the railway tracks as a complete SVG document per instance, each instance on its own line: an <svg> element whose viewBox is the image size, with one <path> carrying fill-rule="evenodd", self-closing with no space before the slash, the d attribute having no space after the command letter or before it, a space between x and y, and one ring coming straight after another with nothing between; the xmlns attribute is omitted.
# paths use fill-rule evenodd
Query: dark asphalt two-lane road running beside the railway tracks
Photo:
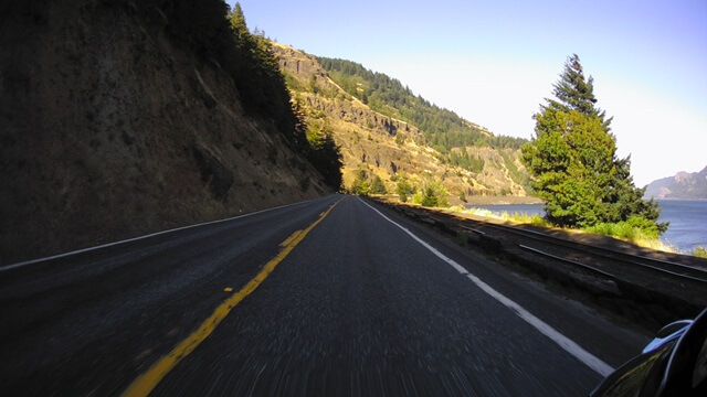
<svg viewBox="0 0 707 397"><path fill-rule="evenodd" d="M333 195L0 271L0 395L122 394L273 258L154 395L587 395L601 369L577 348L615 367L645 343L423 226Z"/></svg>

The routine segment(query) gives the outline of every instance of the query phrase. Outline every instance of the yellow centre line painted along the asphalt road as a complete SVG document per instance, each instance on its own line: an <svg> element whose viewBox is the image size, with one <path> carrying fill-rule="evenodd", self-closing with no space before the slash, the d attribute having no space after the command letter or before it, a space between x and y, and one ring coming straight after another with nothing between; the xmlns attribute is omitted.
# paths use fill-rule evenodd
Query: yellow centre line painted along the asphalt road
<svg viewBox="0 0 707 397"><path fill-rule="evenodd" d="M271 261L265 264L261 271L249 281L245 287L243 287L240 291L232 294L229 299L223 301L213 313L203 322L201 325L191 333L187 339L181 341L169 354L159 358L149 369L147 369L143 375L137 377L130 386L123 393L125 397L137 397L137 396L147 396L155 389L155 387L160 383L160 380L172 369L179 362L181 362L186 356L188 356L191 352L201 344L215 328L225 319L226 315L231 312L231 310L245 297L251 294L257 287L265 281L267 276L275 269L275 267L283 260L285 257L299 244L305 236L312 232L328 214L334 210L334 207L341 201L341 198L337 200L336 203L331 204L331 206L321 213L321 215L315 221L312 225L309 225L304 230L297 230L292 236L289 236L285 242L289 240L289 243L275 256Z"/></svg>

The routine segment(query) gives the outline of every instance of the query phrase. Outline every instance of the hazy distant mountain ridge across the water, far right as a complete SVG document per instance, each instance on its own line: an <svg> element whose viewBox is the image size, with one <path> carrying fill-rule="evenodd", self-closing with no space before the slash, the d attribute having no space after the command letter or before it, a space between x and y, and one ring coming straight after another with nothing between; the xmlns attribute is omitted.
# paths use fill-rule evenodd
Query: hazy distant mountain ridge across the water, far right
<svg viewBox="0 0 707 397"><path fill-rule="evenodd" d="M680 171L674 176L651 182L645 198L656 200L707 200L707 167L699 172Z"/></svg>

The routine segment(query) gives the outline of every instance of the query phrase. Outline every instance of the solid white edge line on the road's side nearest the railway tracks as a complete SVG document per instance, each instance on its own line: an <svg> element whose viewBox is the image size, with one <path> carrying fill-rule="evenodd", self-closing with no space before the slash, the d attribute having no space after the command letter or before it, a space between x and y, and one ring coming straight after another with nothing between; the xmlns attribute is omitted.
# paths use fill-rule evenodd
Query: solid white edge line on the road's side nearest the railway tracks
<svg viewBox="0 0 707 397"><path fill-rule="evenodd" d="M423 247L428 248L437 258L440 258L440 259L444 260L445 262L447 262L450 266L452 266L454 269L456 269L456 271L458 271L463 276L466 276L482 291L488 293L492 298L496 299L502 304L504 304L508 309L513 310L519 318L521 318L528 324L532 325L535 329L540 331L540 333L542 333L544 335L548 336L550 340L552 340L552 342L557 343L560 347L562 347L569 354L573 355L576 358L578 358L579 361L584 363L584 365L587 365L588 367L594 369L598 374L600 374L603 377L606 377L606 376L609 376L609 374L614 372L614 368L611 365L604 363L599 357L594 356L593 354L591 354L588 351L585 351L584 348L582 348L574 341L572 341L569 337L564 336L563 334L561 334L559 331L557 331L552 326L548 325L542 320L540 320L537 316L532 315L529 311L524 309L520 304L514 302L513 300L508 299L503 293L500 293L500 292L496 291L495 289L493 289L489 285L487 285L486 282L482 281L478 277L476 277L476 276L472 275L471 272L468 272L468 270L466 270L460 264L457 264L453 259L447 258L446 256L444 256L444 254L440 253L437 249L435 249L434 247L432 247L431 245L429 245L428 243L422 240L420 237L415 236L412 232L410 232L404 226L401 226L397 222L394 222L391 218L389 218L388 216L383 215L380 211L373 208L370 204L368 204L367 202L362 201L361 198L359 198L359 200L361 201L361 203L366 204L369 208L371 208L374 212L377 212L378 215L382 216L386 221L388 221L391 224L400 227L410 237L412 237L412 239L414 239L415 242L420 243L420 245L422 245Z"/></svg>

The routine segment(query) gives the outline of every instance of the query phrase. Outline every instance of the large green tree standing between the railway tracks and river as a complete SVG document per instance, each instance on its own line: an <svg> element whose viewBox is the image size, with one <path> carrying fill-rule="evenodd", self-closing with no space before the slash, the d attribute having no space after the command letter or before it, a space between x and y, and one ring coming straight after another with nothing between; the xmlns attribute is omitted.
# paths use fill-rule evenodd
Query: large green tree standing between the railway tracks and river
<svg viewBox="0 0 707 397"><path fill-rule="evenodd" d="M616 158L616 143L604 112L594 107L592 81L584 82L577 55L556 84L559 100L534 116L535 138L521 160L535 180L535 194L546 201L546 217L558 226L606 228L620 235L665 232L655 202L642 200L630 174L630 159ZM606 224L615 224L608 226Z"/></svg>

